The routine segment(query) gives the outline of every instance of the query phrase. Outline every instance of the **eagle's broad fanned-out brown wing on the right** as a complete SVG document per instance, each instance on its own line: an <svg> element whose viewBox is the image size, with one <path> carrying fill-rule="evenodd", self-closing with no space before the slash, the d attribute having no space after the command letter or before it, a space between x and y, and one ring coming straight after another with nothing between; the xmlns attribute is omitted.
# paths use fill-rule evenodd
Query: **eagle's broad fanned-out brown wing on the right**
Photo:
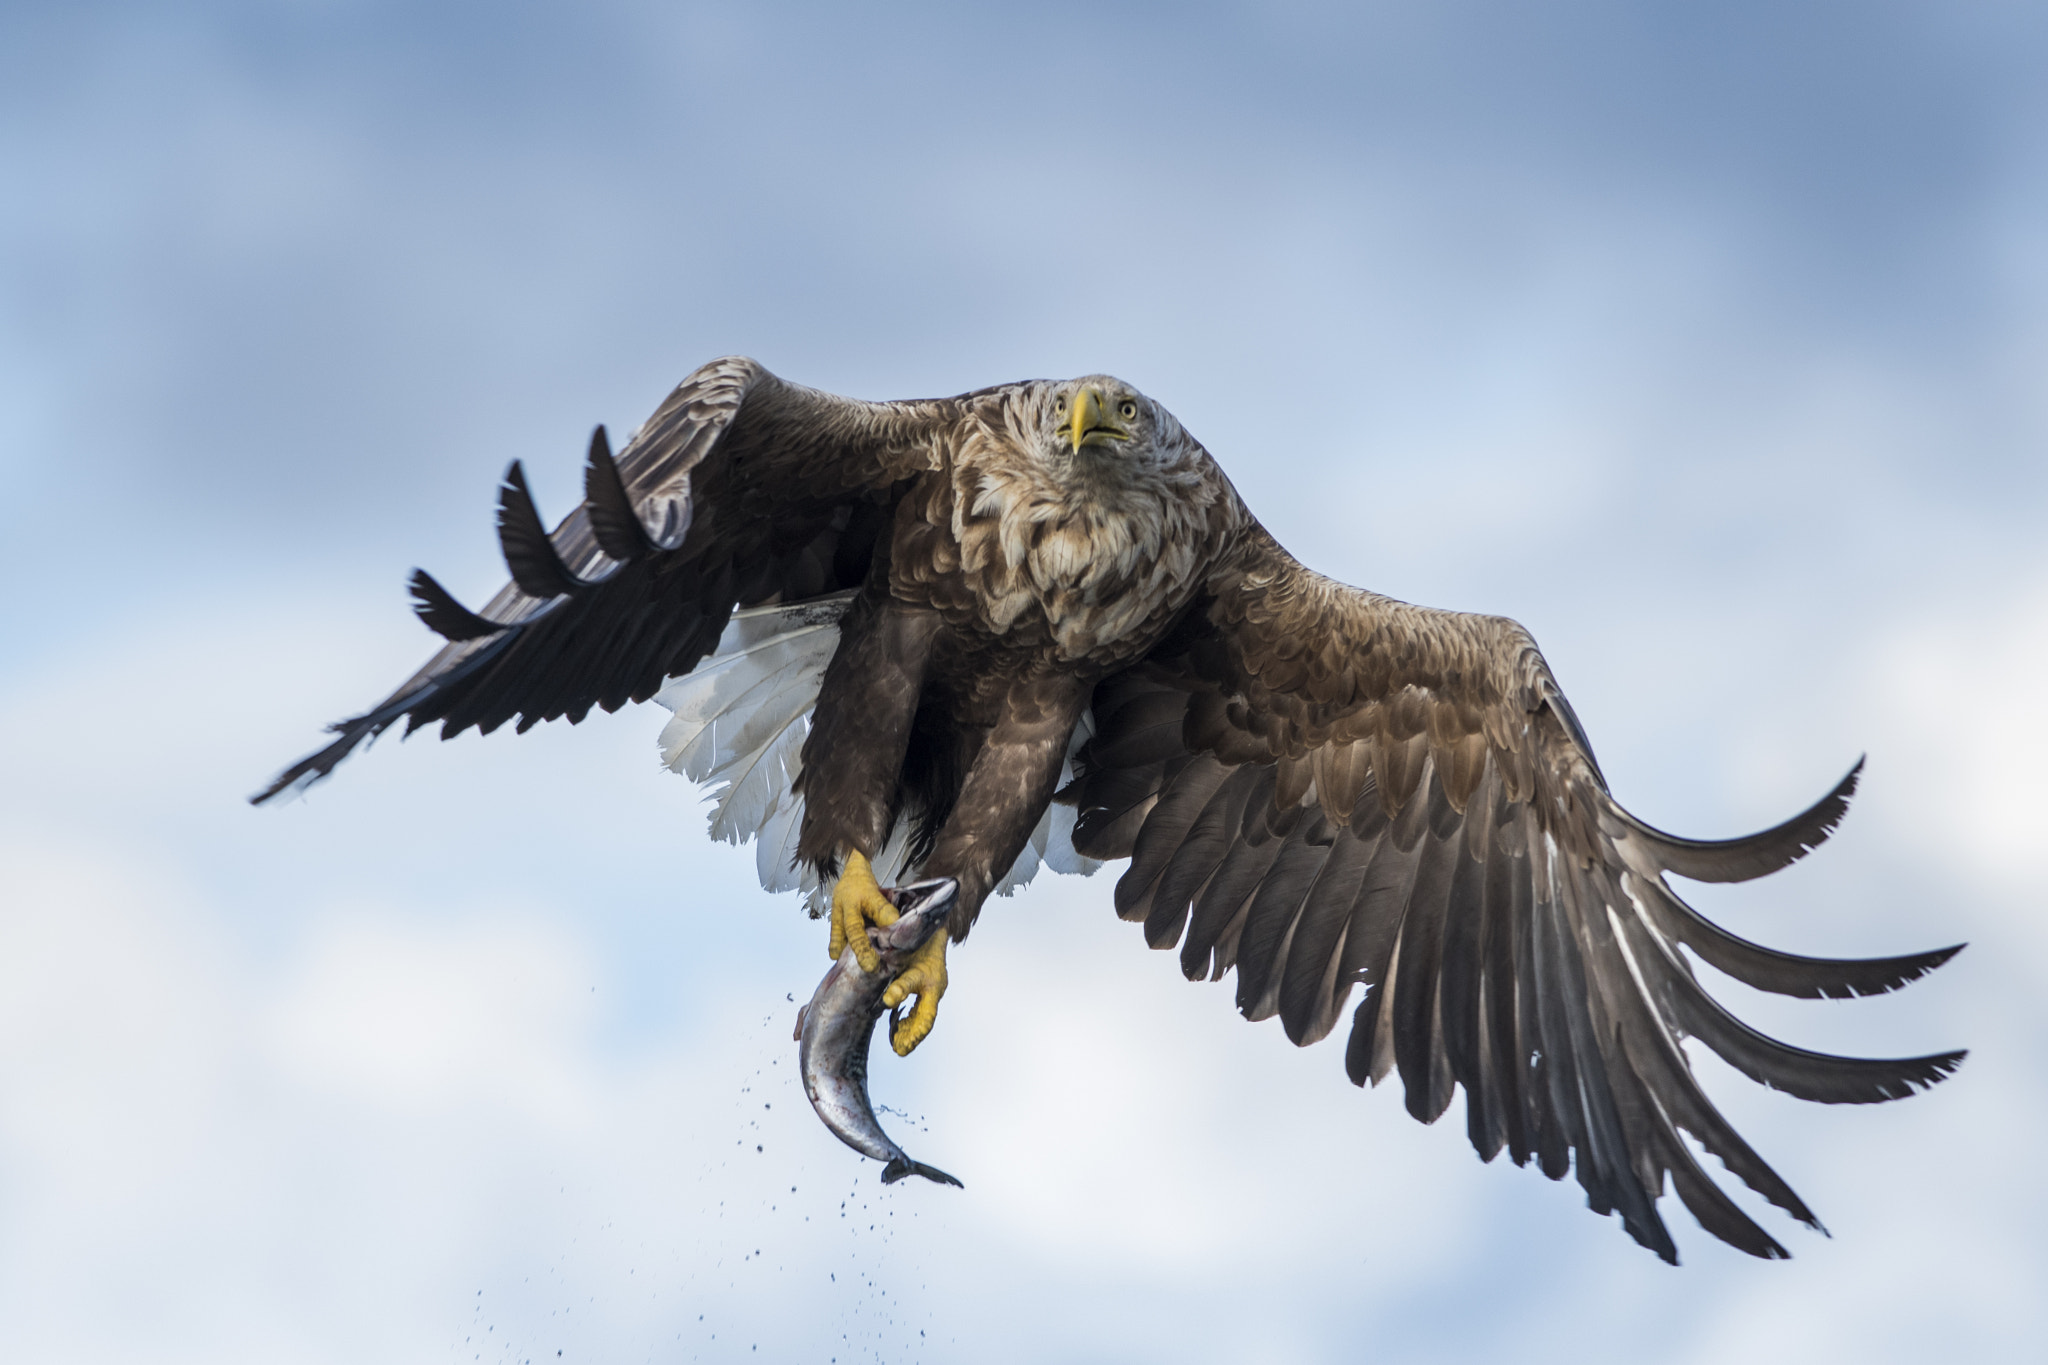
<svg viewBox="0 0 2048 1365"><path fill-rule="evenodd" d="M1679 1140L1692 1134L1800 1222L1812 1212L1700 1091L1683 1038L1763 1085L1827 1103L1894 1099L1962 1054L1851 1060L1763 1038L1698 984L1694 954L1800 997L1890 990L1956 950L1831 962L1747 943L1665 884L1737 882L1808 851L1855 786L1749 839L1659 833L1616 804L1534 641L1309 573L1251 526L1208 593L1139 667L1106 679L1075 847L1130 857L1116 909L1190 978L1237 968L1247 1019L1309 1044L1356 982L1346 1070L1399 1068L1409 1111L1466 1091L1479 1154L1501 1148L1620 1212L1675 1261L1665 1175L1714 1236L1784 1248Z"/></svg>

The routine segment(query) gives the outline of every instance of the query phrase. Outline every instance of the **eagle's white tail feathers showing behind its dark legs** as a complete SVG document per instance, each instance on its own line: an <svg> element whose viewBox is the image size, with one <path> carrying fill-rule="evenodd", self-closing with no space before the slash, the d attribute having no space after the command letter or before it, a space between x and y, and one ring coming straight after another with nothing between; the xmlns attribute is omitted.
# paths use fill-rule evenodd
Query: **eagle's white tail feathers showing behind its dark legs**
<svg viewBox="0 0 2048 1365"><path fill-rule="evenodd" d="M825 913L827 888L817 870L797 866L803 798L791 788L803 772L803 741L852 593L795 606L733 612L719 647L692 673L672 677L655 700L674 718L662 726L662 763L700 782L711 796L711 835L727 843L758 839L754 864L762 888L801 890L813 917ZM1092 716L1075 726L1061 786L1073 780L1073 753L1094 733ZM885 886L911 880L909 821L897 821L872 860ZM1030 841L995 886L1008 896L1044 864L1092 874L1102 864L1073 851L1073 808L1051 806Z"/></svg>

